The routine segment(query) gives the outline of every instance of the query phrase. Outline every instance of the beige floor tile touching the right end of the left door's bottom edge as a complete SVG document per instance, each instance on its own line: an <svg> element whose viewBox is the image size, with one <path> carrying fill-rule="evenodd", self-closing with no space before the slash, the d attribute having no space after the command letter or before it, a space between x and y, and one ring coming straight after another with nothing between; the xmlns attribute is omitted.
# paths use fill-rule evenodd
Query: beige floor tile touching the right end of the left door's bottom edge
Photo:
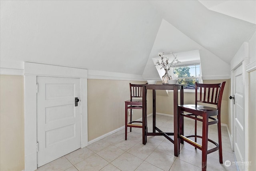
<svg viewBox="0 0 256 171"><path fill-rule="evenodd" d="M83 159L86 159L87 157L93 155L94 152L90 149L84 147L82 149L78 149L76 151L73 151L72 153L69 153L65 155L65 157L73 164L79 163Z"/></svg>

